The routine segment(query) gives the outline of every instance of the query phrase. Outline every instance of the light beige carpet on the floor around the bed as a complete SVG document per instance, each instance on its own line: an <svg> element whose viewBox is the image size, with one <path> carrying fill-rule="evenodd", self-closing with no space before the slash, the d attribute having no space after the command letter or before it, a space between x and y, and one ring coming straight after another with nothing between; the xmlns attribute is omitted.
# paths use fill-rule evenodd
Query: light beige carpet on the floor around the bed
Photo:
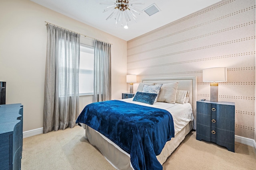
<svg viewBox="0 0 256 170"><path fill-rule="evenodd" d="M114 170L76 126L23 139L22 170ZM235 153L196 140L191 131L163 164L164 170L256 170L254 147L235 143Z"/></svg>

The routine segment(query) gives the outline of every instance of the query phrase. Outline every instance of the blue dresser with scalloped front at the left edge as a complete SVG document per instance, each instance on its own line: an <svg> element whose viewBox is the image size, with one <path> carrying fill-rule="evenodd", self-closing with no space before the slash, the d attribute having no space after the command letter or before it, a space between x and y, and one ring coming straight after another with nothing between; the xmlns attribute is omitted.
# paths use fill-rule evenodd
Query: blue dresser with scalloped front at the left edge
<svg viewBox="0 0 256 170"><path fill-rule="evenodd" d="M0 170L20 170L23 139L23 106L0 105Z"/></svg>

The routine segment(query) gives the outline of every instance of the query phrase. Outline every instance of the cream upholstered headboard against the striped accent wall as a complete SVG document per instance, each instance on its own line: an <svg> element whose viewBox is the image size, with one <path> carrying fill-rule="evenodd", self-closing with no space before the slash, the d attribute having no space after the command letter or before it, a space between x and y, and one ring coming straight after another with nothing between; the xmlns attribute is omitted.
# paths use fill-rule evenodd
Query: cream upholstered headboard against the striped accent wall
<svg viewBox="0 0 256 170"><path fill-rule="evenodd" d="M197 77L184 76L184 77L160 77L160 78L142 78L143 83L157 83L165 84L171 82L179 82L178 90L189 90L189 103L192 105L194 115L194 126L196 129L196 98L197 98Z"/></svg>

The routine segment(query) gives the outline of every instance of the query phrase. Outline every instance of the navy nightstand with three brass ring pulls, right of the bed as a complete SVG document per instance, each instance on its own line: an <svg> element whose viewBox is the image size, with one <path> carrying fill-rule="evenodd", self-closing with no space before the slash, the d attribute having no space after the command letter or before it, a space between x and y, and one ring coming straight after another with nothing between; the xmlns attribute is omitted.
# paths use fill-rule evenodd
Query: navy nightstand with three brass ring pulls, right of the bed
<svg viewBox="0 0 256 170"><path fill-rule="evenodd" d="M196 102L196 139L235 151L235 103Z"/></svg>

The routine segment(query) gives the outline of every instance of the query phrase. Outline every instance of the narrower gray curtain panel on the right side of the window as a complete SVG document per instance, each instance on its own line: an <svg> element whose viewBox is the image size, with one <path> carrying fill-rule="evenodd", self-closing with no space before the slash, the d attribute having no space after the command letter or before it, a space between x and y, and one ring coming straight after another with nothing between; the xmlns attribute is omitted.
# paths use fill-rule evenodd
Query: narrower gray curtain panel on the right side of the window
<svg viewBox="0 0 256 170"><path fill-rule="evenodd" d="M95 40L93 102L111 100L110 58L111 44Z"/></svg>

